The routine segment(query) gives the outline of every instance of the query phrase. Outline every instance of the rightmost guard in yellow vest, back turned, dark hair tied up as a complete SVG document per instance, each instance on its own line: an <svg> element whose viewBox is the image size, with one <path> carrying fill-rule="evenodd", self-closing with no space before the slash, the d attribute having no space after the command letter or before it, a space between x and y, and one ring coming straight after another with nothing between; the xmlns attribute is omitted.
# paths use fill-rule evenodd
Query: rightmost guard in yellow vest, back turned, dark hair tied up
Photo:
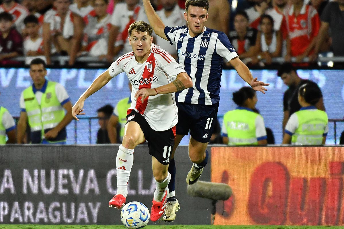
<svg viewBox="0 0 344 229"><path fill-rule="evenodd" d="M290 116L282 144L289 144L290 140L292 145L325 144L329 120L324 111L315 107L321 98L318 87L310 83L301 85L298 95L301 109Z"/></svg>

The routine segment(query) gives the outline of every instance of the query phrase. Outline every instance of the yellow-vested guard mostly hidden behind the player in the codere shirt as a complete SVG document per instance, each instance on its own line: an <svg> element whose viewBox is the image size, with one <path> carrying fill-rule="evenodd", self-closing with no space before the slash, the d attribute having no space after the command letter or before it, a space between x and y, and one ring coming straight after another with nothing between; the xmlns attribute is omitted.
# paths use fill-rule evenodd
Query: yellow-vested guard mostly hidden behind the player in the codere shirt
<svg viewBox="0 0 344 229"><path fill-rule="evenodd" d="M129 89L131 92L132 85L129 82ZM127 123L127 111L131 104L131 97L120 100L114 108L114 113L111 115L108 124L108 134L111 143L121 143L124 135L124 126ZM118 123L120 124L120 130L118 131ZM119 133L119 136L117 136Z"/></svg>

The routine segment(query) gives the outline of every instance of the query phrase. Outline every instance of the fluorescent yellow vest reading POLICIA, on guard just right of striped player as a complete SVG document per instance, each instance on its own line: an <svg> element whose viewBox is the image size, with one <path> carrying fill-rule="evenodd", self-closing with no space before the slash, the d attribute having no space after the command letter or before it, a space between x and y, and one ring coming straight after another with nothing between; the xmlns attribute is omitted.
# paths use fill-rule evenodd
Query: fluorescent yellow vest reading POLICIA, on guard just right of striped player
<svg viewBox="0 0 344 229"><path fill-rule="evenodd" d="M228 145L258 145L256 117L259 114L246 109L228 111L223 122L226 125Z"/></svg>

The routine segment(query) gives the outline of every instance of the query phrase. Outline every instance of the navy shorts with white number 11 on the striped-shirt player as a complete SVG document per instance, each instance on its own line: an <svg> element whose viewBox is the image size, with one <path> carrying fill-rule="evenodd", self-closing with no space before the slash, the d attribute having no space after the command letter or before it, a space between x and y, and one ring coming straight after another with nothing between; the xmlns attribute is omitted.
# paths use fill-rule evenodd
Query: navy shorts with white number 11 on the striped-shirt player
<svg viewBox="0 0 344 229"><path fill-rule="evenodd" d="M178 123L176 125L176 134L190 135L199 142L209 142L213 134L218 103L214 105L189 104L177 102Z"/></svg>

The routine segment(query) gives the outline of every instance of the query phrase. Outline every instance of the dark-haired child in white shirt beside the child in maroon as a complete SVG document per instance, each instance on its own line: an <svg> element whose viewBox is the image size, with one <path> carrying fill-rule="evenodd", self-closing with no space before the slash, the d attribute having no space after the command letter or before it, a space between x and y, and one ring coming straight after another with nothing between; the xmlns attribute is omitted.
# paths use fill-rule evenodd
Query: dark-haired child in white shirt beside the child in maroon
<svg viewBox="0 0 344 229"><path fill-rule="evenodd" d="M29 15L24 19L25 30L28 37L24 40L25 65L29 65L31 60L41 58L46 62L43 52L43 38L39 34L40 25L34 15Z"/></svg>

